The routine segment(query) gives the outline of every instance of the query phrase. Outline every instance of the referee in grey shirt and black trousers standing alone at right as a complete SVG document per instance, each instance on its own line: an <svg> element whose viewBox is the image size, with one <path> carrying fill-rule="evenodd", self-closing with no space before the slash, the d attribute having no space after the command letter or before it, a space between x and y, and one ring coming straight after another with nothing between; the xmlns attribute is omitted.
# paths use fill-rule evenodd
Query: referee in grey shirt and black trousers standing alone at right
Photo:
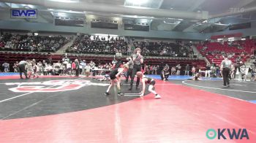
<svg viewBox="0 0 256 143"><path fill-rule="evenodd" d="M223 82L224 82L224 84L222 85L223 87L230 86L229 74L230 74L231 66L232 66L232 61L227 59L227 55L225 55L224 60L222 61L220 66L220 69L222 70L222 76L223 76Z"/></svg>

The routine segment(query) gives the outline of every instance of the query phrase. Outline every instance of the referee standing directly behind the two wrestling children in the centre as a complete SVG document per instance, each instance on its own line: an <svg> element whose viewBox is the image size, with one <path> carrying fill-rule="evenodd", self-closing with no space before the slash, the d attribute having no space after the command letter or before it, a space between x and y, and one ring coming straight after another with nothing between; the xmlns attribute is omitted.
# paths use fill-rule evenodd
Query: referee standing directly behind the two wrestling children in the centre
<svg viewBox="0 0 256 143"><path fill-rule="evenodd" d="M135 75L137 74L138 71L141 71L141 64L143 63L143 56L140 55L140 52L141 52L140 48L137 47L135 49L135 54L132 55L133 69L132 69L132 77L131 77L131 83L130 83L129 90L132 90L132 84L133 84ZM139 89L139 84L140 84L140 78L137 77L136 89Z"/></svg>

